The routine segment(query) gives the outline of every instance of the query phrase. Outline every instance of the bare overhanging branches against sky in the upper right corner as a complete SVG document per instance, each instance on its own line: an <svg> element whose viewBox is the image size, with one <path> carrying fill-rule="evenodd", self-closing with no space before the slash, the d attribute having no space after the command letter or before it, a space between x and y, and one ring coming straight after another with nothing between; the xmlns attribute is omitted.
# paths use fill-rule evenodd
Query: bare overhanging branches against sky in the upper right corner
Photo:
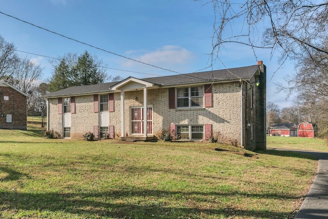
<svg viewBox="0 0 328 219"><path fill-rule="evenodd" d="M328 1L212 0L215 21L212 59L235 43L281 52L280 61L296 61L314 51L327 55ZM259 35L262 34L262 40Z"/></svg>

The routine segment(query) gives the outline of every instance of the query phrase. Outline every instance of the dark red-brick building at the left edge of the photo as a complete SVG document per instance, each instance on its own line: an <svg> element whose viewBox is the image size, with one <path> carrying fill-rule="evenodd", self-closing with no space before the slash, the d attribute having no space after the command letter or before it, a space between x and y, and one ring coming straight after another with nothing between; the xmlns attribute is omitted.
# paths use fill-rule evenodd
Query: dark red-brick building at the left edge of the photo
<svg viewBox="0 0 328 219"><path fill-rule="evenodd" d="M0 129L27 129L27 94L0 82Z"/></svg>

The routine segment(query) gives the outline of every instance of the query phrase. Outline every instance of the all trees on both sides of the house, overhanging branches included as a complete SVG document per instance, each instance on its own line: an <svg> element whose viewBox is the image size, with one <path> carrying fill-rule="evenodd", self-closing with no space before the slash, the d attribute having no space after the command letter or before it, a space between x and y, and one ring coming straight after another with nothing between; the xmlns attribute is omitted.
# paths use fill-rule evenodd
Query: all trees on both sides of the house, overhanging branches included
<svg viewBox="0 0 328 219"><path fill-rule="evenodd" d="M215 15L213 63L220 60L224 45L239 44L249 46L255 57L259 49L271 49L272 56L280 53L279 64L286 60L295 64L296 74L285 75L288 86L277 85L282 92L297 94L295 104L280 110L268 103L267 126L276 122L313 122L319 135L328 137L328 1L211 0L206 4L209 3L213 4ZM29 93L29 114L44 109L36 103L42 101L42 93L110 79L119 81L108 77L101 62L87 51L80 56L68 53L51 61L52 77L41 84L42 68L27 57L19 57L14 45L1 36L0 56L0 79Z"/></svg>

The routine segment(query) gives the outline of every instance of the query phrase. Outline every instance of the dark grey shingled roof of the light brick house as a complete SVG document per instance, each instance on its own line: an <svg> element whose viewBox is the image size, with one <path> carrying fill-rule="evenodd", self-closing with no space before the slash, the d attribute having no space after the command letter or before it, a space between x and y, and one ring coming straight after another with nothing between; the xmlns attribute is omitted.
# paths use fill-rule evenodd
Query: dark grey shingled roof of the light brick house
<svg viewBox="0 0 328 219"><path fill-rule="evenodd" d="M213 71L204 71L196 72L189 74L177 74L170 76L161 76L161 77L148 77L143 79L137 79L138 81L144 81L146 83L151 83L157 86L175 86L183 84L192 84L192 83L205 83L205 82L226 82L226 81L239 81L239 79L248 80L253 77L256 73L259 74L259 66L247 66L240 68L231 68L223 70L213 70ZM129 80L133 77L128 77L122 82ZM58 90L52 93L48 93L43 97L60 97L60 96L72 96L72 95L85 95L85 94L95 94L102 92L113 92L110 91L111 88L119 87L121 82L111 82L105 84L97 85L85 85L85 86L73 86L63 90Z"/></svg>

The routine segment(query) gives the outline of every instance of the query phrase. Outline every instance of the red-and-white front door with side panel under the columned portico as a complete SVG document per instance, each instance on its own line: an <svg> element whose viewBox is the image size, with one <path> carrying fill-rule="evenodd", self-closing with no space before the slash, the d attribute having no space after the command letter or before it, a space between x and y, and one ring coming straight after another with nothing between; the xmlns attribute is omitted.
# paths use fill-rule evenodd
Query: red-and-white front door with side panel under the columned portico
<svg viewBox="0 0 328 219"><path fill-rule="evenodd" d="M147 109L147 134L153 133L153 108ZM144 107L131 108L131 134L144 134Z"/></svg>

